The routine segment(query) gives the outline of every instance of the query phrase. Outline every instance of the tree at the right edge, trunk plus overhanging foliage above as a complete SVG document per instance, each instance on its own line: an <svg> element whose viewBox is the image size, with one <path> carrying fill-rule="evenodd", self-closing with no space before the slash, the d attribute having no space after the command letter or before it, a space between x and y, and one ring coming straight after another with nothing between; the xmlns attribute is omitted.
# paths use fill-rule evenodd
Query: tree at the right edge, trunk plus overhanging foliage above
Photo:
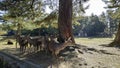
<svg viewBox="0 0 120 68"><path fill-rule="evenodd" d="M105 3L108 4L108 8L116 8L112 12L113 19L120 19L120 0L105 0ZM120 46L120 20L118 20L119 25L118 25L118 30L115 36L115 39L112 43L110 43L109 46Z"/></svg>

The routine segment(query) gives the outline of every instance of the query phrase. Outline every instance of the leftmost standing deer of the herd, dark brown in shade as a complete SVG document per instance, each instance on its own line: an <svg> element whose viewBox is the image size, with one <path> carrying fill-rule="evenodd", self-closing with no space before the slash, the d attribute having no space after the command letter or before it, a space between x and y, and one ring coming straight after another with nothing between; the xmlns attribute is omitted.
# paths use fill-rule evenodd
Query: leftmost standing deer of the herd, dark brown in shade
<svg viewBox="0 0 120 68"><path fill-rule="evenodd" d="M26 37L25 36L17 35L16 36L16 41L20 45L20 51L21 52L25 52L26 47L28 46L28 41L27 41Z"/></svg>

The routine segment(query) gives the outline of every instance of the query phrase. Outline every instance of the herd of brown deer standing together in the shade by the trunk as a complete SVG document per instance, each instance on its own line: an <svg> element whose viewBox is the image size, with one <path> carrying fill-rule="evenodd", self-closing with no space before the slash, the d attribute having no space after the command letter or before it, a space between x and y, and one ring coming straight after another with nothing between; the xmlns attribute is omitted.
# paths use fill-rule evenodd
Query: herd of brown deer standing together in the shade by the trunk
<svg viewBox="0 0 120 68"><path fill-rule="evenodd" d="M56 56L61 50L72 44L71 37L68 38L64 43L59 43L56 41L57 36L16 36L16 41L20 45L20 51L25 52L27 48L29 51L36 52L44 50L46 52L51 52L52 55Z"/></svg>

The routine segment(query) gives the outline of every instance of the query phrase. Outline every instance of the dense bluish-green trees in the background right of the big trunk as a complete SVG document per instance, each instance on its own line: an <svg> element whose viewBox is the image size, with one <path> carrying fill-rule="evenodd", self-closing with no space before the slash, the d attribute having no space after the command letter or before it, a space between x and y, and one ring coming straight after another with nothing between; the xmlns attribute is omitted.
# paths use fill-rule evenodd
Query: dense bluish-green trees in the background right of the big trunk
<svg viewBox="0 0 120 68"><path fill-rule="evenodd" d="M74 26L74 35L87 34L87 36L98 36L104 32L107 25L105 21L100 21L100 18L96 15L90 17L84 17L79 20L80 25Z"/></svg>

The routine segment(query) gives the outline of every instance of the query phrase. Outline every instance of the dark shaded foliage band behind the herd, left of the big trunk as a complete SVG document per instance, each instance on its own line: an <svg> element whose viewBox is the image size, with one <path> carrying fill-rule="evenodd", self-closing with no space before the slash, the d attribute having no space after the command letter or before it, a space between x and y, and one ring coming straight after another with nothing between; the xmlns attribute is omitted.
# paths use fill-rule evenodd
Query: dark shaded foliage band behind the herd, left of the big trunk
<svg viewBox="0 0 120 68"><path fill-rule="evenodd" d="M36 28L33 30L26 30L23 29L21 30L22 35L28 35L30 34L31 36L45 36L45 35L54 35L54 34L58 34L58 30L54 27L40 27L40 28Z"/></svg>

